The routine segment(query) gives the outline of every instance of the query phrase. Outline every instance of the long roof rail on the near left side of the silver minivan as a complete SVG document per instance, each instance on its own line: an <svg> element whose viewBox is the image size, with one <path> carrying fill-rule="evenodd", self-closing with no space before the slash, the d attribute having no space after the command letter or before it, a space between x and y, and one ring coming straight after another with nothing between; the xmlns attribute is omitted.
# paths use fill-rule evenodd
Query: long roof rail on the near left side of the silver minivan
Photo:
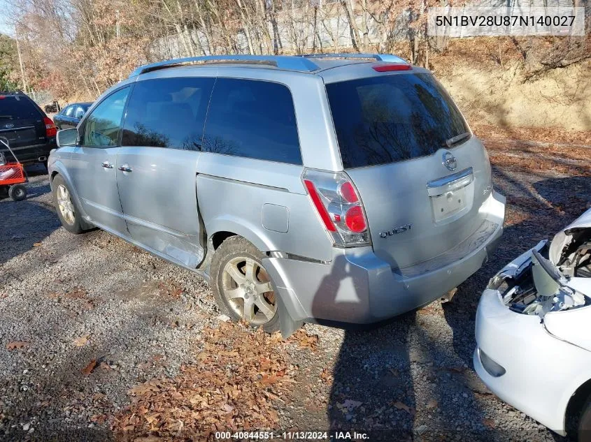
<svg viewBox="0 0 591 442"><path fill-rule="evenodd" d="M186 57L182 59L172 59L166 61L159 61L158 63L145 64L136 68L129 78L135 77L150 71L157 71L162 68L169 68L172 66L178 66L185 63L195 62L237 62L246 64L269 64L270 66L276 66L280 69L286 69L288 71L303 71L311 72L319 69L318 65L313 61L306 59L306 57L298 57L292 55L206 55L204 57Z"/></svg>

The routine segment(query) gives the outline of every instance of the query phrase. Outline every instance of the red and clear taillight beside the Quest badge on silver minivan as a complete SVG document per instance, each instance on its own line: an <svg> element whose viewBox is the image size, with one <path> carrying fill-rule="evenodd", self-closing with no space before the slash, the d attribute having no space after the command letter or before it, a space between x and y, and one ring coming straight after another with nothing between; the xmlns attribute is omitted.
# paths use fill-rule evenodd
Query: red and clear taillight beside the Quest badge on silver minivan
<svg viewBox="0 0 591 442"><path fill-rule="evenodd" d="M345 172L306 170L302 179L334 245L353 247L370 244L361 198Z"/></svg>

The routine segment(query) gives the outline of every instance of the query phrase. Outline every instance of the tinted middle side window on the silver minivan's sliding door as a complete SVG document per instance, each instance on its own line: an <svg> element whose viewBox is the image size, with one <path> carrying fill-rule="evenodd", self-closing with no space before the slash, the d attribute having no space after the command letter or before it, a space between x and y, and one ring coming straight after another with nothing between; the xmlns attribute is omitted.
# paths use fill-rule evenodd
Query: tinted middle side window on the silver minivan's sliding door
<svg viewBox="0 0 591 442"><path fill-rule="evenodd" d="M213 78L137 82L127 105L123 146L201 150Z"/></svg>

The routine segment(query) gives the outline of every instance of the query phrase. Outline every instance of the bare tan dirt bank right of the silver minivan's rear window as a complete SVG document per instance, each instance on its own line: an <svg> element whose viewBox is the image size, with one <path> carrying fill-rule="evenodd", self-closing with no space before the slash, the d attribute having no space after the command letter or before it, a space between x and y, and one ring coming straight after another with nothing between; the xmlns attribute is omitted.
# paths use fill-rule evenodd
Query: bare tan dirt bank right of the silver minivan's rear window
<svg viewBox="0 0 591 442"><path fill-rule="evenodd" d="M458 61L435 73L472 126L591 131L591 64L527 82L517 62L492 68Z"/></svg>

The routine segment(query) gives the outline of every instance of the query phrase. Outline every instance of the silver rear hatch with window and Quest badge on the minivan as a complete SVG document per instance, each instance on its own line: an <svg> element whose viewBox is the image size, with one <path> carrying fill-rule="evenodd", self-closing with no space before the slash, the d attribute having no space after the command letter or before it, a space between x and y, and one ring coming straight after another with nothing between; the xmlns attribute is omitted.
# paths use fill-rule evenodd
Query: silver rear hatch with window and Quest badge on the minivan
<svg viewBox="0 0 591 442"><path fill-rule="evenodd" d="M473 237L483 237L478 209L492 189L490 162L441 84L413 69L326 89L376 255L412 274L404 268L469 253Z"/></svg>

